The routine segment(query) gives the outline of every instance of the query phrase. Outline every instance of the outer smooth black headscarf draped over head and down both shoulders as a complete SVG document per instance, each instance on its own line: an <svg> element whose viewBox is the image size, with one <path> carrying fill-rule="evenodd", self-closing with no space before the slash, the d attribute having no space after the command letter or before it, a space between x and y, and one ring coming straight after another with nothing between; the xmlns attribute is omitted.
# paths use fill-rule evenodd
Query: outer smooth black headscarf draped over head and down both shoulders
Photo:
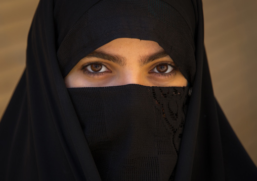
<svg viewBox="0 0 257 181"><path fill-rule="evenodd" d="M0 180L101 179L63 81L69 69L65 72L58 62L67 35L97 2L39 2L28 36L26 70L0 123ZM213 96L201 1L165 2L184 18L195 47L195 63L182 71L193 92L175 180L257 180L255 165ZM167 51L165 43L153 40Z"/></svg>

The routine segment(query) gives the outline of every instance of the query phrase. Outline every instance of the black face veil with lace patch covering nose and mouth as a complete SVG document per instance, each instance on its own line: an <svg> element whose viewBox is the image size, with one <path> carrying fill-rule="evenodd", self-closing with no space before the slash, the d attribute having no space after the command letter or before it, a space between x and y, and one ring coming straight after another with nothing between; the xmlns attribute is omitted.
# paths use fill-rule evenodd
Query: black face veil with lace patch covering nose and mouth
<svg viewBox="0 0 257 181"><path fill-rule="evenodd" d="M189 87L68 88L102 180L169 180Z"/></svg>

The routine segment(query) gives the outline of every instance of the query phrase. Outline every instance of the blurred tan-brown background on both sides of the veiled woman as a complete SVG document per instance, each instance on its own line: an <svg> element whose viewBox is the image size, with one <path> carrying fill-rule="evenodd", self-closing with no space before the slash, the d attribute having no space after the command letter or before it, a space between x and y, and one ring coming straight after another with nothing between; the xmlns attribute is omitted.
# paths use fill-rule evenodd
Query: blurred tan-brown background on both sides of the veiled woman
<svg viewBox="0 0 257 181"><path fill-rule="evenodd" d="M25 69L38 0L0 0L0 117ZM257 1L203 0L212 85L231 126L257 165Z"/></svg>

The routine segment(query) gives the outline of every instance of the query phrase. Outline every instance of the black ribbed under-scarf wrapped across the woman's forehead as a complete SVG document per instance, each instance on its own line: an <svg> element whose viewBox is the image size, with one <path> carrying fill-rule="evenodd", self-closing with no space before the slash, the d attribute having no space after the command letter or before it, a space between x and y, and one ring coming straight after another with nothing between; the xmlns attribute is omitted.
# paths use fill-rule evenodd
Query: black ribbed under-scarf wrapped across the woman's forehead
<svg viewBox="0 0 257 181"><path fill-rule="evenodd" d="M102 0L91 7L73 25L57 51L63 77L87 54L121 37L158 42L186 79L193 82L193 33L174 7L156 0Z"/></svg>

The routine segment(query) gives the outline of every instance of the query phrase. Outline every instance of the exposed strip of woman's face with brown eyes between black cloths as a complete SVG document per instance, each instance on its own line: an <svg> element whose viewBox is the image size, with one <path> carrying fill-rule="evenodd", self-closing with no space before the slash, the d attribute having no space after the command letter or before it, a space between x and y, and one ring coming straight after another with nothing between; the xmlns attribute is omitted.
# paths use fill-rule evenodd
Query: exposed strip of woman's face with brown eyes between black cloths
<svg viewBox="0 0 257 181"><path fill-rule="evenodd" d="M115 39L96 49L64 78L66 87L125 84L187 86L172 58L155 41Z"/></svg>

